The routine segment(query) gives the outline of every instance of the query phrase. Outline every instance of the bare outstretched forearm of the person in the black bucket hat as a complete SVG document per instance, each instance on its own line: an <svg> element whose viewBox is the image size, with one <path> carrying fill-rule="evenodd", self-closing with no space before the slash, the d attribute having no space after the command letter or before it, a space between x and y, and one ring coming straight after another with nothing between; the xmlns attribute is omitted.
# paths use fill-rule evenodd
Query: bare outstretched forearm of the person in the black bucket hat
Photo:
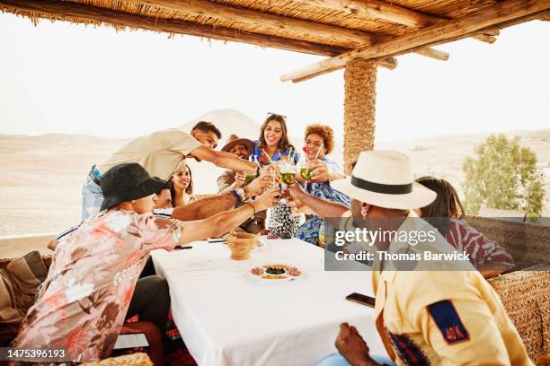
<svg viewBox="0 0 550 366"><path fill-rule="evenodd" d="M245 222L253 213L266 210L278 200L276 196L279 195L279 188L270 188L253 202L244 204L235 210L217 213L206 220L183 222L180 244L219 237Z"/></svg>

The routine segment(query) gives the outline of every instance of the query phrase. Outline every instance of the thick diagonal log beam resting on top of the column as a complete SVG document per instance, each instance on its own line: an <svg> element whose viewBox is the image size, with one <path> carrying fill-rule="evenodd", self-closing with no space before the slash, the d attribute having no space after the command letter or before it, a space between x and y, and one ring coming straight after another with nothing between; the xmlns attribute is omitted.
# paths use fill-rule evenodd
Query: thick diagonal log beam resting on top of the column
<svg viewBox="0 0 550 366"><path fill-rule="evenodd" d="M336 67L342 67L354 58L377 59L378 57L396 56L418 48L470 37L476 31L483 32L484 29L494 26L500 28L498 27L500 23L514 22L519 18L533 14L539 17L538 13L544 13L547 9L550 9L550 0L505 0L458 19L430 25L368 48L354 49L340 56L308 65L282 75L280 80L283 82L305 80L310 75L324 74Z"/></svg>

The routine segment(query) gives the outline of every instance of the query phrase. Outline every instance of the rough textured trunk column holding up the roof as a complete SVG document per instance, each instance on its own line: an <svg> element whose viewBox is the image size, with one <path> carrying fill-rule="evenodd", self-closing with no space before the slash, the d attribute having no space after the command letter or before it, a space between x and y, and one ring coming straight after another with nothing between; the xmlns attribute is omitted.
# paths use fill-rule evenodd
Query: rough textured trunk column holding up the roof
<svg viewBox="0 0 550 366"><path fill-rule="evenodd" d="M359 153L374 149L376 61L351 60L346 64L344 82L344 170L350 175L350 165Z"/></svg>

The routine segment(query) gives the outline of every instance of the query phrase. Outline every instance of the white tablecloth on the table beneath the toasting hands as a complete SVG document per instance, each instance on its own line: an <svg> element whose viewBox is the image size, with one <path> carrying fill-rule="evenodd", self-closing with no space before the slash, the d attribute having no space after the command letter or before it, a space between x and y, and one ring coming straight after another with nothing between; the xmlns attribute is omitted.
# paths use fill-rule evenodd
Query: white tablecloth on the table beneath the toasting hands
<svg viewBox="0 0 550 366"><path fill-rule="evenodd" d="M369 272L324 272L324 251L301 240L265 240L245 261L229 259L223 243L152 253L157 274L170 286L173 318L199 365L315 365L336 352L340 323L359 329L371 354L386 354L374 311L346 301L372 296ZM255 265L298 266L302 278L263 283Z"/></svg>

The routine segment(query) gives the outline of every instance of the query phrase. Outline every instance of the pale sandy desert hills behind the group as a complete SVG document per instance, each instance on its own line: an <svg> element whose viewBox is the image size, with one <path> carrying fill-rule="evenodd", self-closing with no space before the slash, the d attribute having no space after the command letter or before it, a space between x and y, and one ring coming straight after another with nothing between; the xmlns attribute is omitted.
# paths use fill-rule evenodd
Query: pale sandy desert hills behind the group
<svg viewBox="0 0 550 366"><path fill-rule="evenodd" d="M240 134L253 136L259 125L246 127L250 133L240 131ZM230 128L224 126L224 129ZM516 134L522 135L523 144L536 151L539 168L546 168L545 215L550 216L550 169L547 169L550 168L550 130L510 133ZM486 136L447 135L376 147L408 153L418 175L439 175L459 188L464 158L472 154L475 144L483 142ZM301 146L297 139L293 140ZM87 172L95 161L101 161L123 142L82 135L0 135L0 236L52 233L78 223L81 189ZM337 145L333 159L341 162L342 144ZM191 163L191 168L197 193L213 193L221 170L208 162ZM13 257L13 254L13 248L3 247L0 240L0 257Z"/></svg>

